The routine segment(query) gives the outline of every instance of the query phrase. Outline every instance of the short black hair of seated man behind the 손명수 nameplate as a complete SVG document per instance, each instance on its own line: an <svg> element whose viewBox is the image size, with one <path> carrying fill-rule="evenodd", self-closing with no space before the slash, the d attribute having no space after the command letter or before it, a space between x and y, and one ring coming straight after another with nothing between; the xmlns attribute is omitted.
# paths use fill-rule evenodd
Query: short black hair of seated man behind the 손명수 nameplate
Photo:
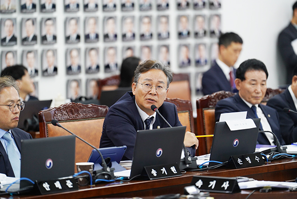
<svg viewBox="0 0 297 199"><path fill-rule="evenodd" d="M239 78L242 81L246 80L245 74L249 70L262 70L266 74L266 79L268 78L266 66L263 62L256 59L246 60L245 62L241 63L241 65L236 70L236 78Z"/></svg>

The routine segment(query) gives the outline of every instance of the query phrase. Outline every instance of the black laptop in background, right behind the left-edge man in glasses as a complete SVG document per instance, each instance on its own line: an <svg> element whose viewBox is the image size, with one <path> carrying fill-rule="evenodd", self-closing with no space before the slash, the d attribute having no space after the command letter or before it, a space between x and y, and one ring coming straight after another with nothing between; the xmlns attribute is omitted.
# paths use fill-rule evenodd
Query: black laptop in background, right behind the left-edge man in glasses
<svg viewBox="0 0 297 199"><path fill-rule="evenodd" d="M39 128L39 121L38 121L38 113L42 110L46 110L50 107L52 100L44 100L44 101L28 101L25 102L25 109L20 112L20 118L17 128L26 130L25 129L25 120L30 119L32 121L33 116L37 119L37 125ZM28 121L27 121L28 122ZM31 122L31 124L33 121ZM27 127L28 128L28 127Z"/></svg>

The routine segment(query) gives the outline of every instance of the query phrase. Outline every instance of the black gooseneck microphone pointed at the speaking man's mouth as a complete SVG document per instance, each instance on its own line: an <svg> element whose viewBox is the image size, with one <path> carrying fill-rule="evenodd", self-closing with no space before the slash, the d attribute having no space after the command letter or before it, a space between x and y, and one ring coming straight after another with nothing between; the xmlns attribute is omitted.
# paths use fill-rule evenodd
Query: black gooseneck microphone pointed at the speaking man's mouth
<svg viewBox="0 0 297 199"><path fill-rule="evenodd" d="M150 106L150 109L152 111L155 111L166 122L166 124L170 128L172 128L172 126L167 122L167 120L160 114L160 112L157 109L156 105L151 105ZM197 158L191 158L191 157L189 157L189 154L187 152L187 149L185 147L185 144L183 144L183 148L184 148L185 157L182 159L184 161L181 161L181 163L180 163L180 169L181 170L185 170L185 169L197 169L197 163L196 163ZM192 161L192 160L195 160L195 161Z"/></svg>

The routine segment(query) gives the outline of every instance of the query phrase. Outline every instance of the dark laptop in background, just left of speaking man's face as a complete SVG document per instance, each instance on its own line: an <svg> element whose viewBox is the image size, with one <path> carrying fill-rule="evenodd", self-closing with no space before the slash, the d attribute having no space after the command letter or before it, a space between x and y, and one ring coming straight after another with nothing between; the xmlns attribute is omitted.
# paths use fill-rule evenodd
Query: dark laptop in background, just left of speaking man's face
<svg viewBox="0 0 297 199"><path fill-rule="evenodd" d="M102 90L100 95L100 104L111 107L128 91L132 91L132 88L122 87L117 88L116 90Z"/></svg>

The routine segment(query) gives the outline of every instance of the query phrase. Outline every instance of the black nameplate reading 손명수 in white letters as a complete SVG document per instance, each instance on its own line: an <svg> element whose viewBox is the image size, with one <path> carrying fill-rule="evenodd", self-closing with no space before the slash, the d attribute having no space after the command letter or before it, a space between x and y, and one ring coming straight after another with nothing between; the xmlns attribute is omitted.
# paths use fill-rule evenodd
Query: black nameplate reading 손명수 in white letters
<svg viewBox="0 0 297 199"><path fill-rule="evenodd" d="M261 166L264 164L265 162L262 158L262 155L260 154L260 152L256 152L243 155L231 155L228 162L228 167L240 169Z"/></svg>

